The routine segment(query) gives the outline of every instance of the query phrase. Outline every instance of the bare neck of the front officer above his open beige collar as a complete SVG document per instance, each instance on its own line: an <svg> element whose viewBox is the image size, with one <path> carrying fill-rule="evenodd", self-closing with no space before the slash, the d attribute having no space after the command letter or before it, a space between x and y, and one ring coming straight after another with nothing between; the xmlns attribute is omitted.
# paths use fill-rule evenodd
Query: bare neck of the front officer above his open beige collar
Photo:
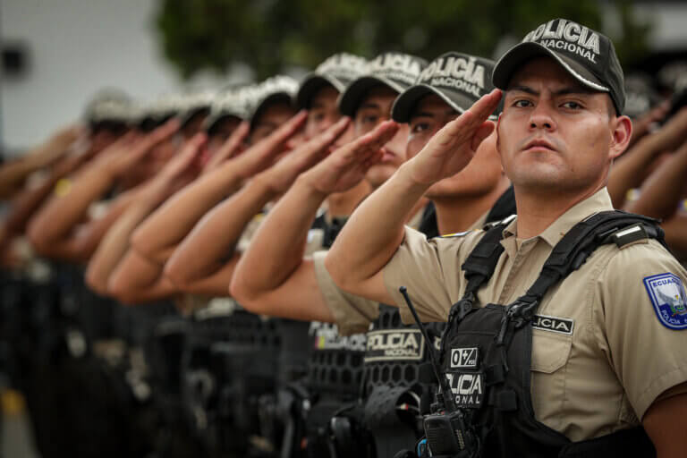
<svg viewBox="0 0 687 458"><path fill-rule="evenodd" d="M517 236L524 240L543 233L556 219L582 200L594 195L598 189L578 192L523 191L515 186L514 191L515 205L518 208Z"/></svg>

